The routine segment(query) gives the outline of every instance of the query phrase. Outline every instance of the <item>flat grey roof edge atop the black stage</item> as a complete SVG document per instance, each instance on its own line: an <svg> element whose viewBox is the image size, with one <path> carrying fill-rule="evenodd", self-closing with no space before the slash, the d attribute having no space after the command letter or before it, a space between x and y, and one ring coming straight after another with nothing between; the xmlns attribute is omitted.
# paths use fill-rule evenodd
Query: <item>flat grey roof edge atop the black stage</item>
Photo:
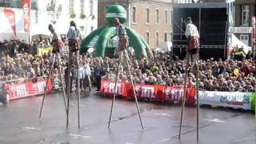
<svg viewBox="0 0 256 144"><path fill-rule="evenodd" d="M173 8L226 8L225 2L206 2L206 3L178 3Z"/></svg>

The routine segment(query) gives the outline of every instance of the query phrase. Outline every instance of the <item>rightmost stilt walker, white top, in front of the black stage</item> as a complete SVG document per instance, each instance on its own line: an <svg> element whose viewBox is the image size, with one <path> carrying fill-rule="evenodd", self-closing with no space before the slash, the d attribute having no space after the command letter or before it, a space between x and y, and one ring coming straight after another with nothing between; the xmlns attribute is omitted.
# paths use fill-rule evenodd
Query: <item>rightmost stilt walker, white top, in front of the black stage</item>
<svg viewBox="0 0 256 144"><path fill-rule="evenodd" d="M182 122L184 115L184 107L186 102L186 82L188 77L188 69L189 66L194 68L194 74L196 76L196 98L197 98L197 139L199 139L199 98L198 98L198 50L199 50L199 34L198 29L192 23L192 19L190 17L186 18L186 38L187 47L186 47L186 70L185 70L185 78L184 78L184 91L182 96L182 111L181 111L181 119L179 125L179 134L178 138L181 138L182 134ZM192 61L192 62L190 62Z"/></svg>

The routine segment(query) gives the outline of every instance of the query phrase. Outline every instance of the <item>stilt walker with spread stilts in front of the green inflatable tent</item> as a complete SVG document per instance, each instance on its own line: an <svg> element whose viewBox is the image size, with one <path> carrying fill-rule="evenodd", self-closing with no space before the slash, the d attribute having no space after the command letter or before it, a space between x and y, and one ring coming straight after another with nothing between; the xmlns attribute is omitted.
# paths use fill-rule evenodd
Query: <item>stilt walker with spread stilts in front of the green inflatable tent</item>
<svg viewBox="0 0 256 144"><path fill-rule="evenodd" d="M138 99L134 90L134 82L133 82L133 77L130 73L130 64L129 64L129 57L128 57L128 53L126 51L127 46L129 45L128 42L128 36L126 34L126 30L124 28L124 26L122 26L122 24L119 22L118 18L114 19L114 24L117 27L117 35L119 38L118 41L118 52L119 52L119 62L118 62L118 70L116 71L116 75L115 75L115 82L114 82L114 96L112 98L112 104L111 104L111 110L110 110L110 118L109 118L109 125L108 127L110 127L110 122L111 122L111 118L112 118L112 112L113 112L113 107L114 107L114 100L115 100L115 96L116 96L116 90L117 90L117 82L118 82L118 74L119 74L119 70L120 70L120 66L122 66L122 57L123 54L125 54L125 58L126 58L126 65L129 71L129 76L130 76L130 82L132 85L132 89L133 89L133 94L134 94L134 99L135 99L135 103L136 103L136 108L138 111L138 118L141 122L141 126L142 126L142 130L143 130L143 123L142 123L142 117L141 117L141 113L139 110L139 106L138 106Z"/></svg>

